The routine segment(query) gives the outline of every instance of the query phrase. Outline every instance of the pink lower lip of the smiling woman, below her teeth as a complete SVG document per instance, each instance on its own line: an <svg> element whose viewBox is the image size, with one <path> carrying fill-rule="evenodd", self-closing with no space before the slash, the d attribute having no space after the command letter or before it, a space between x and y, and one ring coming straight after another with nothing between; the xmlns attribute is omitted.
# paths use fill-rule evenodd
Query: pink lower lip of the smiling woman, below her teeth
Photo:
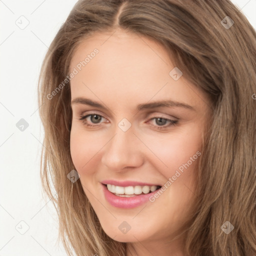
<svg viewBox="0 0 256 256"><path fill-rule="evenodd" d="M111 193L107 187L103 184L103 192L105 195L106 200L115 207L118 208L134 208L136 206L139 206L147 201L149 201L149 197L153 195L155 192L157 192L159 189L150 192L148 194L141 194L141 195L134 195L131 197L123 197L123 196L118 196L113 193Z"/></svg>

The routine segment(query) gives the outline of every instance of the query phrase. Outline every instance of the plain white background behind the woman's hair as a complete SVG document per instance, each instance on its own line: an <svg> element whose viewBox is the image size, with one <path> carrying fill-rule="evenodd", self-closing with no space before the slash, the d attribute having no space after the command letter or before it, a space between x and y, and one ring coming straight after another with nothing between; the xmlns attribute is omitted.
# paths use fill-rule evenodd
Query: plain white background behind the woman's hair
<svg viewBox="0 0 256 256"><path fill-rule="evenodd" d="M0 0L0 256L66 255L51 200L42 197L36 89L47 47L75 2ZM232 2L256 28L256 0Z"/></svg>

